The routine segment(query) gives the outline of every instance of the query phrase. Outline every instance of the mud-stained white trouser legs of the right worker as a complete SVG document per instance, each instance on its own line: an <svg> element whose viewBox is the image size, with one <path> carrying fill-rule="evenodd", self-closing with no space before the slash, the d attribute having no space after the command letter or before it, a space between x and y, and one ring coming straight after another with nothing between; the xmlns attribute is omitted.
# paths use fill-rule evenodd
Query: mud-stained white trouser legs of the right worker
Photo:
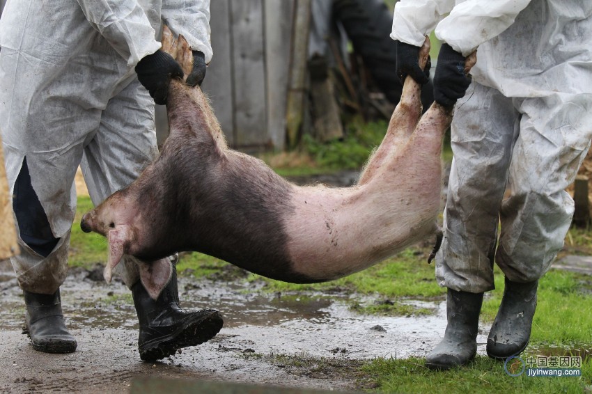
<svg viewBox="0 0 592 394"><path fill-rule="evenodd" d="M591 98L504 97L476 82L469 87L451 129L439 285L492 290L494 259L519 283L536 281L550 268L573 216L565 189L592 138ZM511 195L504 200L506 186Z"/></svg>

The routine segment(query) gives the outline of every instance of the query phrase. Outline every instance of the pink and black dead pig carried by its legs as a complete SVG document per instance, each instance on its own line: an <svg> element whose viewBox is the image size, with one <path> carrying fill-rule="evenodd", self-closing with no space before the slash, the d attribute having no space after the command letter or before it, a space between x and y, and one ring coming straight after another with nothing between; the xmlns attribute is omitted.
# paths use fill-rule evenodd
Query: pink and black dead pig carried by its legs
<svg viewBox="0 0 592 394"><path fill-rule="evenodd" d="M426 38L422 67L429 48ZM163 49L187 77L192 52L185 39L175 42L165 29ZM229 149L198 86L172 80L166 109L170 134L159 157L82 218L82 230L108 239L107 281L122 256L133 255L146 262L141 280L157 297L171 271L164 257L179 251L280 281L331 281L437 231L442 140L452 109L435 103L420 120L420 86L411 77L380 147L359 182L345 188L297 186Z"/></svg>

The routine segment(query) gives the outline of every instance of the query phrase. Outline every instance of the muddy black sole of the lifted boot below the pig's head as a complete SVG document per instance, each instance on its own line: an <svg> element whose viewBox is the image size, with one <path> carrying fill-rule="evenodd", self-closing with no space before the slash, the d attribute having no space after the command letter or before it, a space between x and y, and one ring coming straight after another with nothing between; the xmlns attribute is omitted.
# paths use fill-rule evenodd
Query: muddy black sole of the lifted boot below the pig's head
<svg viewBox="0 0 592 394"><path fill-rule="evenodd" d="M183 347L201 345L214 338L222 324L224 321L221 315L212 311L210 315L187 322L168 336L144 343L139 347L140 358L142 361L153 362L176 354Z"/></svg>

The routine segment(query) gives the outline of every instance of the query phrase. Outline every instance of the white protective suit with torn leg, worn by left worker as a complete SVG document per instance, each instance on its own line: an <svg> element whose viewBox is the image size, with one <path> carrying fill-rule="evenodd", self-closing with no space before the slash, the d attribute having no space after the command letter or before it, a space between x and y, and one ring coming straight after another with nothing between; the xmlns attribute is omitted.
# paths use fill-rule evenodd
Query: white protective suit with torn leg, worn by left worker
<svg viewBox="0 0 592 394"><path fill-rule="evenodd" d="M160 48L162 23L209 63L209 21L209 0L8 0L0 19L8 184L12 194L26 157L33 189L59 238L47 258L20 239L22 253L12 262L23 290L52 294L65 279L79 164L96 205L137 178L157 154L154 101L134 66ZM131 286L137 269L131 260L123 266L120 274Z"/></svg>

